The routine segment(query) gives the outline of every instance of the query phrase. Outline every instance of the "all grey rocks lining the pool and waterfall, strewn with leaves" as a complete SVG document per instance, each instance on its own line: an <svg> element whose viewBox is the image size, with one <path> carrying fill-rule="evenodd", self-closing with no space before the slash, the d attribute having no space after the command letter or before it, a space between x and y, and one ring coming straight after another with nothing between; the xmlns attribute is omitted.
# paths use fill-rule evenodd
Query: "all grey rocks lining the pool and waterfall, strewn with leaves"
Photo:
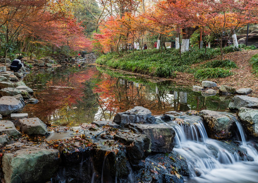
<svg viewBox="0 0 258 183"><path fill-rule="evenodd" d="M148 109L135 107L116 114L113 121L95 121L73 128L46 127L39 118L19 113L31 99L36 103L33 90L18 78L14 80L12 73L1 74L6 78L2 89L11 90L5 92L9 96L0 98L0 113L8 119L0 121L3 181L184 182L183 176L190 176L192 170L186 158L174 151L178 125L188 136L196 131L189 138L198 140L205 138L198 131L203 124L210 138L222 140L224 145L230 143L230 154L237 154L240 160L253 160L235 142L236 117L248 137L256 139L258 134L258 99L245 96L251 89L217 87L209 81L193 87L208 96L217 92L237 94L230 104L231 110L238 111L233 115L202 110L152 116ZM195 174L202 173L195 170Z"/></svg>

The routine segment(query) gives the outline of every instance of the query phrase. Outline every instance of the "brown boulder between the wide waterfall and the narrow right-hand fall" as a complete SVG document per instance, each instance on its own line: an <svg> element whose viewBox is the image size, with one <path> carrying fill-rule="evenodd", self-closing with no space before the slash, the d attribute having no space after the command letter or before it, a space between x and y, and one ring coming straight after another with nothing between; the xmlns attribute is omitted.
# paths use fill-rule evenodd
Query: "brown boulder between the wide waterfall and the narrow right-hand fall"
<svg viewBox="0 0 258 183"><path fill-rule="evenodd" d="M202 110L200 114L210 138L221 140L232 137L232 128L235 121L229 116L211 110Z"/></svg>

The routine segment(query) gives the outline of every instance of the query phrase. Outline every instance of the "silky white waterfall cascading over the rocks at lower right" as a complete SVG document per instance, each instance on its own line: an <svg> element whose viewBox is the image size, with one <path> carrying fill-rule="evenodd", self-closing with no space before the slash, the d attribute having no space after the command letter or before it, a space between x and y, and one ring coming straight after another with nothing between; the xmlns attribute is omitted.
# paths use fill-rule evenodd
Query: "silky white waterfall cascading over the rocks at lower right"
<svg viewBox="0 0 258 183"><path fill-rule="evenodd" d="M244 131L237 119L236 125L242 138L239 145L208 138L203 122L198 117L184 116L184 122L180 121L180 125L174 121L165 123L176 131L176 145L173 150L186 159L189 168L190 177L186 177L184 181L258 182L258 154L246 142ZM236 149L240 149L242 153Z"/></svg>

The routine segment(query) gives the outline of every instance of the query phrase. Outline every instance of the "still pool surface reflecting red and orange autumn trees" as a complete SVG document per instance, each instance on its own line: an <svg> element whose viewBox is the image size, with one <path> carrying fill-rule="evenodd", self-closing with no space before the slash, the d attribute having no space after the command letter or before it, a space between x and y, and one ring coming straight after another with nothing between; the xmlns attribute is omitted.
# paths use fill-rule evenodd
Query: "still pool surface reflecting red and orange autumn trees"
<svg viewBox="0 0 258 183"><path fill-rule="evenodd" d="M35 98L40 102L27 104L23 112L56 125L110 120L117 112L134 106L146 107L158 115L172 110L223 111L230 102L219 96L203 97L192 92L191 86L153 82L95 67L31 74L24 82L35 89Z"/></svg>

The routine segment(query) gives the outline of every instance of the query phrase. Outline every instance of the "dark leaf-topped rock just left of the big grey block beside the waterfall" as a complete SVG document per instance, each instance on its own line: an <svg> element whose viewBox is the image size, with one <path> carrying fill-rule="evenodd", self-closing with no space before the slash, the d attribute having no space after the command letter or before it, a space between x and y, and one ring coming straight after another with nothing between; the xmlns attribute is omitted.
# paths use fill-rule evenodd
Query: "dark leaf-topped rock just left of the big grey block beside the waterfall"
<svg viewBox="0 0 258 183"><path fill-rule="evenodd" d="M151 143L146 135L118 132L114 135L114 140L118 140L126 146L129 160L134 165L137 165L140 160L150 153Z"/></svg>

